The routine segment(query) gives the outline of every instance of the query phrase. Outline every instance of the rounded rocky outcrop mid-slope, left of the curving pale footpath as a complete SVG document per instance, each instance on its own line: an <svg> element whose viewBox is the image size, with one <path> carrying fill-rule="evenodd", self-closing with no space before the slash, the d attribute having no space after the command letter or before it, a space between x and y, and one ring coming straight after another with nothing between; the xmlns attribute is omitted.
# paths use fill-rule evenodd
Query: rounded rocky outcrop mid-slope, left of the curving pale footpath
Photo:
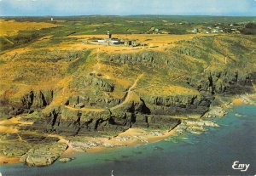
<svg viewBox="0 0 256 176"><path fill-rule="evenodd" d="M117 87L116 82L112 79L102 77L102 74L90 72L89 74L77 77L70 82L70 86L76 90L77 94L69 97L65 105L75 107L77 104L84 104L86 107L108 108L118 105L122 100L121 97L113 97L112 93Z"/></svg>

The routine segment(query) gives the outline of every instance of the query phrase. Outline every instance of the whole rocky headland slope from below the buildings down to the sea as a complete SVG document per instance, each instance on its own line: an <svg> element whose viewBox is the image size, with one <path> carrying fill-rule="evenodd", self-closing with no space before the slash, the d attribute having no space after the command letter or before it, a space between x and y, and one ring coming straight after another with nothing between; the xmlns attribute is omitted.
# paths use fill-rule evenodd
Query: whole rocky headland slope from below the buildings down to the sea
<svg viewBox="0 0 256 176"><path fill-rule="evenodd" d="M70 147L100 150L124 146L119 142L126 139L150 141L126 135L135 128L152 136L177 127L199 133L217 126L203 117L224 116L222 99L255 91L254 37L201 36L132 52L83 48L68 60L43 60L33 49L0 58L9 71L8 63L19 63L13 76L0 73L0 126L8 131L0 154L29 166L49 165ZM30 61L37 56L41 66Z"/></svg>

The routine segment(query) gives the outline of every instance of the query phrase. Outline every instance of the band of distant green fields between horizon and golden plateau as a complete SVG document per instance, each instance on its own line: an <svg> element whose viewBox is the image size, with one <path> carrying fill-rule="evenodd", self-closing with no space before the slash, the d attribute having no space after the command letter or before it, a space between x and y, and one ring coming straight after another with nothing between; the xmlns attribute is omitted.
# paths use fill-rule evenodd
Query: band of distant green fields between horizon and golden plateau
<svg viewBox="0 0 256 176"><path fill-rule="evenodd" d="M166 34L189 34L194 28L207 30L207 27L226 28L230 33L230 25L236 26L238 31L255 34L255 26L245 25L255 23L255 17L213 17L213 16L73 16L73 17L55 17L50 21L50 17L26 17L26 18L2 18L5 21L15 20L17 22L38 22L55 25L52 28L43 28L34 30L26 29L12 36L0 37L1 50L13 48L20 44L30 43L44 36L53 35L51 43L59 43L60 37L84 34L105 34L111 31L113 34L145 34L156 33ZM3 23L4 26L4 23ZM14 25L15 26L15 25ZM26 26L26 24L24 24ZM253 29L252 29L253 28ZM0 28L0 31L3 30ZM12 29L9 29L10 31ZM63 40L63 38L61 38Z"/></svg>

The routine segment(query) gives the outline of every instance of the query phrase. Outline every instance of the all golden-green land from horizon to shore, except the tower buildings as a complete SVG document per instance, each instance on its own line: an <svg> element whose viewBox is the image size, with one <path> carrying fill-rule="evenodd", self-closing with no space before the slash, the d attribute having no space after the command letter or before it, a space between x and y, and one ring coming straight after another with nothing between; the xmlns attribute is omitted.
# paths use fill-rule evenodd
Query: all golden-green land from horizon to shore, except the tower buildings
<svg viewBox="0 0 256 176"><path fill-rule="evenodd" d="M224 116L225 99L255 91L253 20L2 19L12 32L0 29L0 156L46 166L71 149L106 150L163 139L184 126L215 127L205 118ZM204 31L217 26L227 30ZM145 45L86 43L107 31Z"/></svg>

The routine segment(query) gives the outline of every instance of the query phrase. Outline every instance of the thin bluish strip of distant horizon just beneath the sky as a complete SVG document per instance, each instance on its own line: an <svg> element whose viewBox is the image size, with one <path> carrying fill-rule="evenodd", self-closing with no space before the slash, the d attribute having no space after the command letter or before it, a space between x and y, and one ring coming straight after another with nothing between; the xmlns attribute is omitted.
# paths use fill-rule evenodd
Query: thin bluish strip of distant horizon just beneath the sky
<svg viewBox="0 0 256 176"><path fill-rule="evenodd" d="M208 17L256 17L256 15L217 15L217 14L75 14L75 15L0 15L0 18L11 17L81 17L81 16L208 16Z"/></svg>

